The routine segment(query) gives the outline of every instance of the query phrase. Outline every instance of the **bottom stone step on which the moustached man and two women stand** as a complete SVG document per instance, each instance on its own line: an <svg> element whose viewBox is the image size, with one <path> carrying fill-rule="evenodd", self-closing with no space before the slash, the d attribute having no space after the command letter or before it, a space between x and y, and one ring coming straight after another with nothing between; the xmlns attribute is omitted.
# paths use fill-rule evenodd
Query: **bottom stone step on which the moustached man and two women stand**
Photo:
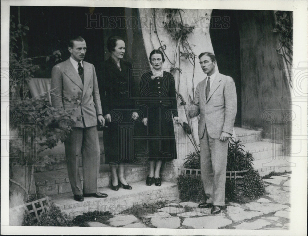
<svg viewBox="0 0 308 236"><path fill-rule="evenodd" d="M119 214L134 204L150 203L157 200L179 200L178 186L173 182L162 181L162 185L159 187L147 186L145 181L132 182L130 185L132 186L131 190L125 190L122 187L118 191L108 187L99 188L99 192L108 194L107 198L85 197L83 202L75 201L72 192L57 194L50 196L50 198L61 211L69 214L70 217L95 210ZM136 210L138 209L136 208Z"/></svg>

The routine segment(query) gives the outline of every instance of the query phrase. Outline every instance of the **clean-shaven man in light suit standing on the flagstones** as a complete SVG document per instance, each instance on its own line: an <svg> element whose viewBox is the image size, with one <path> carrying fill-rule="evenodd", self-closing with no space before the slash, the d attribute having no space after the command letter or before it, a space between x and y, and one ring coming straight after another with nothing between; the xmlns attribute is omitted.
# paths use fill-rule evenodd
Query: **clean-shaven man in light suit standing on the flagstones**
<svg viewBox="0 0 308 236"><path fill-rule="evenodd" d="M199 60L207 77L198 83L189 112L191 118L200 114L201 178L208 199L199 207L212 208L211 214L219 214L225 205L228 140L237 111L236 90L233 79L218 72L213 53L201 53Z"/></svg>

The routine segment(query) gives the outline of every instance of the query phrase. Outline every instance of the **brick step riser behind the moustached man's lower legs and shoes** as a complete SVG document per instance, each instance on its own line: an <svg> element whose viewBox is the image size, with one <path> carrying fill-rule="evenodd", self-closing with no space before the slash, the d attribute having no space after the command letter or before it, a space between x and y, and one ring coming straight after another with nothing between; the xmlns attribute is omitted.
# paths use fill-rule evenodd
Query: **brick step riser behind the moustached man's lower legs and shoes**
<svg viewBox="0 0 308 236"><path fill-rule="evenodd" d="M132 166L127 164L125 167L124 176L128 183L136 181L145 182L148 172L148 166ZM79 174L83 182L82 167L79 167ZM34 173L34 180L37 191L47 196L60 193L70 193L72 191L67 174L67 168ZM109 186L110 180L111 172L109 165L100 165L99 177L97 180L98 187Z"/></svg>

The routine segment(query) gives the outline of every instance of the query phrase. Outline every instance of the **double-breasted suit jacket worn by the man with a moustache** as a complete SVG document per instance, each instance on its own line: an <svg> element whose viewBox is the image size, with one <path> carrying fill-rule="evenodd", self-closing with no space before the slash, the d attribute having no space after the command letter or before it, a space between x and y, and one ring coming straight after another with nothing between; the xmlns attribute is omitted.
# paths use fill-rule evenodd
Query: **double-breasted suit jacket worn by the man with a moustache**
<svg viewBox="0 0 308 236"><path fill-rule="evenodd" d="M51 104L55 108L76 108L77 120L73 127L91 127L97 125L97 116L102 115L99 89L95 68L83 61L83 83L70 59L55 65L51 71Z"/></svg>

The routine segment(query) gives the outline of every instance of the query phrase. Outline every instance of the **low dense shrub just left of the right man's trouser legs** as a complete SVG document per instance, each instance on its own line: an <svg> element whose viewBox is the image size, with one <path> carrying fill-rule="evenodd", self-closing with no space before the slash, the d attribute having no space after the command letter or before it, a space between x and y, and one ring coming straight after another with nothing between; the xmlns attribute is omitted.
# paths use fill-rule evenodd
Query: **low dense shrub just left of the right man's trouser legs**
<svg viewBox="0 0 308 236"><path fill-rule="evenodd" d="M207 199L200 175L180 175L177 177L177 185L181 201L198 202Z"/></svg>

